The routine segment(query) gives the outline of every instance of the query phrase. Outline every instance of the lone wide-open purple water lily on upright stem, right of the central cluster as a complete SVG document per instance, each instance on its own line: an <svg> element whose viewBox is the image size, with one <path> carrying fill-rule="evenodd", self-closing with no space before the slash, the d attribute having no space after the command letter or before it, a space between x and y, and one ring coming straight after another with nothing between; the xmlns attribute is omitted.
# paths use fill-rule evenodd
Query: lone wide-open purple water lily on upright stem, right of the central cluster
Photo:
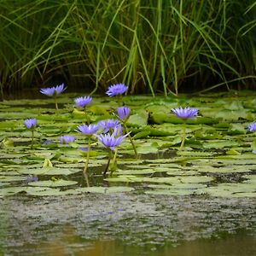
<svg viewBox="0 0 256 256"><path fill-rule="evenodd" d="M183 119L183 132L182 132L182 143L180 145L180 150L183 150L184 148L184 143L186 139L186 119L195 119L195 115L198 113L198 109L196 108L172 108L172 113L175 113L175 115Z"/></svg>

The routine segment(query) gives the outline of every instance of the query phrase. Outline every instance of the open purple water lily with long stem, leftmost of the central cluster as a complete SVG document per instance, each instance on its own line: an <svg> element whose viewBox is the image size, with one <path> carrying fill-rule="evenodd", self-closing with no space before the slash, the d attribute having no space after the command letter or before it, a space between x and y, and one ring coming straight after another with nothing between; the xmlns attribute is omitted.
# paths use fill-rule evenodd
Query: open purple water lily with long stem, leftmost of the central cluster
<svg viewBox="0 0 256 256"><path fill-rule="evenodd" d="M86 156L86 161L85 161L85 165L84 165L84 177L87 183L87 186L89 187L89 180L88 180L88 175L87 175L87 169L88 169L88 164L89 164L89 158L90 158L90 139L92 137L93 134L96 133L96 131L98 131L99 125L79 125L78 126L78 131L79 133L84 134L85 136L88 137L88 149L87 149L87 156Z"/></svg>

